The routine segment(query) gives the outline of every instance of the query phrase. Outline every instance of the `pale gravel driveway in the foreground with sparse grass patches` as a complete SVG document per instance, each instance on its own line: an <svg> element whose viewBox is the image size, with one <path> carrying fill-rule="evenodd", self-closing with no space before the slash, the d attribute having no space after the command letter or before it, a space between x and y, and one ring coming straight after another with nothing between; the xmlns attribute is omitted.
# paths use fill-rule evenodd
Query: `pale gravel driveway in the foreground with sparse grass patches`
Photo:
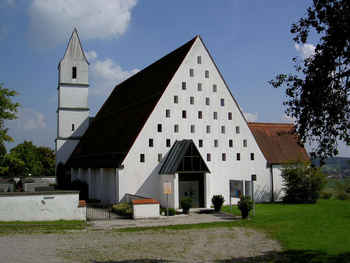
<svg viewBox="0 0 350 263"><path fill-rule="evenodd" d="M25 233L25 232L24 232ZM0 262L274 262L263 231L208 228L84 230L0 236Z"/></svg>

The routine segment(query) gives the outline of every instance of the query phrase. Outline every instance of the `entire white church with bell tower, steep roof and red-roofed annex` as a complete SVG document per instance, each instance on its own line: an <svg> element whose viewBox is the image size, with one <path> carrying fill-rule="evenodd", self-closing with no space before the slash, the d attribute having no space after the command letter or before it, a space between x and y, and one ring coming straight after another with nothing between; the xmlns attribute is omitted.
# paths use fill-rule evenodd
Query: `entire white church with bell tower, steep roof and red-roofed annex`
<svg viewBox="0 0 350 263"><path fill-rule="evenodd" d="M255 201L273 201L280 163L308 159L292 135L277 134L293 124L246 122L200 36L117 85L93 120L88 66L74 30L58 66L56 165L86 180L90 198L165 205L170 182L169 207L184 196L210 207L213 195L228 204L230 190L244 194L253 175Z"/></svg>

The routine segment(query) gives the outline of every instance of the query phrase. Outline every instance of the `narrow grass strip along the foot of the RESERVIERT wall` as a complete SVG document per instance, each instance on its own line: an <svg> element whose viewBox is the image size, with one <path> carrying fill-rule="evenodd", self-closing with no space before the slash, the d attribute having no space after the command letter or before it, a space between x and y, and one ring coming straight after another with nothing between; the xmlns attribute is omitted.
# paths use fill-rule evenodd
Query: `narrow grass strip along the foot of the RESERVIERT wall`
<svg viewBox="0 0 350 263"><path fill-rule="evenodd" d="M0 221L1 231L37 231L37 230L82 230L86 228L83 220L56 221ZM47 233L48 234L48 233Z"/></svg>

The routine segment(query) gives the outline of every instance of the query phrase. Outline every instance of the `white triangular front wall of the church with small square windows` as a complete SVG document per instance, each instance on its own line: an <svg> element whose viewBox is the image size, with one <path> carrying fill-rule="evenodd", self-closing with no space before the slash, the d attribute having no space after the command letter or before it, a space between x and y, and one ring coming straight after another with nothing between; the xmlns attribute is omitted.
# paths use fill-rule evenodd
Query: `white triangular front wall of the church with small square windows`
<svg viewBox="0 0 350 263"><path fill-rule="evenodd" d="M197 64L197 56L201 56L201 64ZM193 77L189 74L190 69L194 69ZM209 78L205 78L205 70L209 70ZM186 90L182 90L182 82L186 82ZM198 91L197 83L202 83L202 91ZM213 92L213 85L217 85L217 92ZM234 93L234 89L232 91ZM179 103L174 103L174 95L178 96ZM190 104L191 96L194 97L194 104ZM207 97L210 105L205 104ZM225 101L224 106L221 106L221 99ZM166 109L170 110L170 118L166 117ZM182 110L186 110L186 119L182 118ZM198 111L202 111L202 119L198 119ZM214 120L214 112L217 112L217 120ZM228 120L228 112L232 112L232 120ZM162 124L161 133L157 132L158 124ZM179 124L179 133L174 132L174 124ZM195 125L195 133L191 133L191 125ZM209 134L206 133L207 125L210 125ZM225 134L221 133L221 126L225 126ZM236 126L239 126L239 134L236 134ZM148 139L153 139L153 147L148 146ZM158 174L163 164L158 162L158 154L162 154L164 161L170 150L170 147L166 147L166 139L170 139L170 146L173 146L175 140L183 139L193 139L196 144L211 171L205 177L206 207L210 207L210 198L215 194L222 194L225 197L224 204L229 204L229 180L251 180L252 174L257 174L255 189L259 189L259 196L256 196L256 200L270 201L271 182L266 160L199 39L169 83L126 156L124 169L119 171L119 197L129 193L164 203L166 195L162 192L162 183L168 180L173 182L174 189L178 187L174 175ZM203 140L203 147L198 146L200 139ZM214 147L214 140L218 140L218 147ZM233 147L229 147L229 140L233 140ZM247 140L247 147L243 147L243 140ZM207 153L211 154L209 162ZM222 161L222 153L226 154L226 161ZM236 160L237 153L240 153L240 161ZM254 153L253 161L250 160L251 153ZM145 154L143 163L140 162L140 154ZM267 194L261 194L262 191ZM178 208L177 196L172 195L174 199L169 201L175 208ZM237 198L232 198L232 203L237 201Z"/></svg>

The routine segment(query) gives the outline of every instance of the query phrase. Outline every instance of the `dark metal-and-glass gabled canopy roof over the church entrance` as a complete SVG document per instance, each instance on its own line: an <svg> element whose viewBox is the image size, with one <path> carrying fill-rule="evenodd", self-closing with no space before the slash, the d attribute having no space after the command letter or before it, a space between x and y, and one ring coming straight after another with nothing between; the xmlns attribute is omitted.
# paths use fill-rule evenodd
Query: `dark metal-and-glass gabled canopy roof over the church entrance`
<svg viewBox="0 0 350 263"><path fill-rule="evenodd" d="M175 141L159 174L210 173L193 140Z"/></svg>

